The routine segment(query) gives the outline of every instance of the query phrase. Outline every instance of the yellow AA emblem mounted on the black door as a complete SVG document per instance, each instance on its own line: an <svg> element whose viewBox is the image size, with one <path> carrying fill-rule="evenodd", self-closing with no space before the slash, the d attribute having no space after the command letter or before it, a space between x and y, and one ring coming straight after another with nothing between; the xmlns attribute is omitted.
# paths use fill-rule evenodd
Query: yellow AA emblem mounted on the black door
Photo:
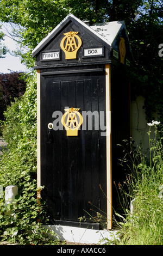
<svg viewBox="0 0 163 256"><path fill-rule="evenodd" d="M66 129L67 136L77 136L78 129L83 123L83 117L78 112L80 108L66 108L61 123Z"/></svg>

